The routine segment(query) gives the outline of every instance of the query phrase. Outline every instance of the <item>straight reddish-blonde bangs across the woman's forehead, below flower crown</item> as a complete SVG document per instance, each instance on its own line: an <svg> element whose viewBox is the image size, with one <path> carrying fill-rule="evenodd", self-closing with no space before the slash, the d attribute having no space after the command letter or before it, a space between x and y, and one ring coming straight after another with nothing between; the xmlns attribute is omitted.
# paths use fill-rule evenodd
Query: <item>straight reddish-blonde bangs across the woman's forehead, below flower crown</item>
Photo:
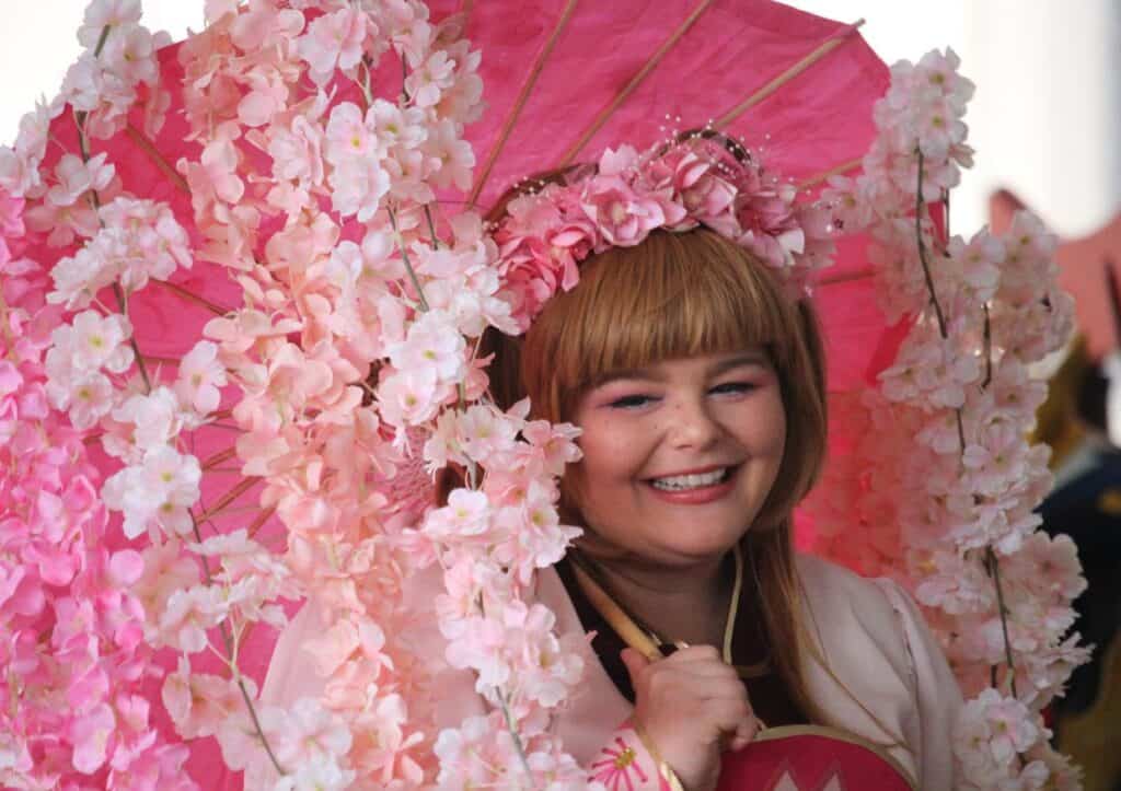
<svg viewBox="0 0 1121 791"><path fill-rule="evenodd" d="M580 286L526 337L522 378L545 401L535 411L571 420L581 396L620 371L751 346L784 371L798 336L796 309L748 251L707 229L656 231L581 267Z"/></svg>

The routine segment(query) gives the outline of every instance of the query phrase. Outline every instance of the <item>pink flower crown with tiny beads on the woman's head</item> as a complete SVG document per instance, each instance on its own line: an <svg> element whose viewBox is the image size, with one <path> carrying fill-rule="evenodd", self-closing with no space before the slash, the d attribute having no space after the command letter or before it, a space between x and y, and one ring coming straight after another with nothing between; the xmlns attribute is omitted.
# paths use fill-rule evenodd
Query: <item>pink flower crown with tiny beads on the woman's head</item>
<svg viewBox="0 0 1121 791"><path fill-rule="evenodd" d="M767 171L730 138L694 132L645 152L606 149L511 199L493 226L499 271L525 332L558 289L580 281L577 263L611 246L633 246L651 231L704 225L777 270L791 295L831 263L832 213L795 204L797 188Z"/></svg>

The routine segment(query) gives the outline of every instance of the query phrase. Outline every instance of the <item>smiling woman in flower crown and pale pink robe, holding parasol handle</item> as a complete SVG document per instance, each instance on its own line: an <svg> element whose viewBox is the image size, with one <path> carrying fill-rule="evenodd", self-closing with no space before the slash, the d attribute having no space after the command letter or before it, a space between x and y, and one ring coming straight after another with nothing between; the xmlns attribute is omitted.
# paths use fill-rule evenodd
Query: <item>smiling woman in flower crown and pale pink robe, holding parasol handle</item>
<svg viewBox="0 0 1121 791"><path fill-rule="evenodd" d="M688 145L715 162L736 153L734 143L715 153L704 140ZM656 175L654 161L637 173ZM736 168L750 173L738 158L726 166L733 179ZM606 155L601 175L604 167ZM555 614L584 664L582 692L550 732L613 790L740 789L749 776L751 788L826 788L831 779L884 791L953 788L961 694L914 603L893 583L793 548L791 513L817 477L826 434L817 320L782 272L793 252L810 246L803 227L761 199L759 215L771 224L730 239L715 210L694 206L708 224L691 226L685 211L669 218L643 204L658 193L641 182L624 203L610 175L584 178L502 210L494 239L528 332L481 338L497 409L518 411L528 398L531 419L582 431L583 458L560 481L559 515L583 533L531 584L535 606ZM544 232L535 225L582 188L603 204L602 240L586 242L576 221L555 235L547 221ZM721 205L701 193L691 198ZM582 205L600 212L590 198ZM659 216L663 227L651 220ZM503 502L532 494L493 485ZM436 513L470 519L470 497L478 493L457 488ZM513 540L531 541L530 532ZM452 606L437 598L435 577L411 584L415 598L436 599L432 623ZM266 699L316 694L284 659L325 627L316 617L305 611L281 638ZM409 639L418 652L441 645L423 629ZM437 682L438 723L487 711L470 672ZM782 781L760 762L788 736L825 746L785 747L776 766L795 769ZM445 741L436 751L453 747Z"/></svg>

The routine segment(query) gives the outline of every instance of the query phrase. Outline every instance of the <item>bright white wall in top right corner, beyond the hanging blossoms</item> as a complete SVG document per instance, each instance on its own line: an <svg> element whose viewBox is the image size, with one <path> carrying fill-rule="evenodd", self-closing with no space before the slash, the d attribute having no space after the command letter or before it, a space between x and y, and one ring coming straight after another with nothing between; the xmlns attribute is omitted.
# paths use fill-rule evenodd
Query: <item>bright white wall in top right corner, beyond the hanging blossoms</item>
<svg viewBox="0 0 1121 791"><path fill-rule="evenodd" d="M965 199L1006 186L1063 235L1104 225L1121 210L1121 3L985 0L967 22L980 156Z"/></svg>

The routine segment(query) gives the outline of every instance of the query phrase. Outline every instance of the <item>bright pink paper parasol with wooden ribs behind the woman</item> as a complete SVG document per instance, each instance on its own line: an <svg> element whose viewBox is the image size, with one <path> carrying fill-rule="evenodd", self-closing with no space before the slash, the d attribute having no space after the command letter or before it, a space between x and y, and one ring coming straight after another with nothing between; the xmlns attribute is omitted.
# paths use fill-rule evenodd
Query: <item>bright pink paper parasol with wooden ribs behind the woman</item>
<svg viewBox="0 0 1121 791"><path fill-rule="evenodd" d="M876 131L872 104L888 86L887 68L856 26L765 0L552 0L467 2L462 8L436 0L430 8L434 21L462 15L464 35L483 53L479 72L488 109L466 131L478 159L474 183L465 197L442 195L450 213L460 202L485 208L527 174L592 160L604 147L628 142L641 148L673 131L708 123L759 150L769 168L798 188L799 202L812 201L830 175L856 169ZM217 185L207 184L207 176L197 171L188 183L177 166L202 158L184 115L182 47L158 54L159 84L170 92L163 128L146 132L143 108L137 106L123 131L93 140L90 150L108 155L128 193L169 204L198 251L189 270L177 269L166 282L152 281L129 301L136 351L143 376L152 383L172 382L204 326L240 307L243 296L243 282L232 277L238 273L233 262L207 254L209 242L193 220L192 202L204 199L201 188ZM400 74L399 63L389 59L393 63L382 66L379 78ZM306 80L300 90L312 95ZM353 92L344 90L341 97ZM50 134L59 146L52 147L45 170L61 151L81 147L68 112L55 119ZM262 156L248 147L245 151ZM358 225L353 220L344 225L343 238L354 238ZM252 250L257 255L280 222L266 216L259 227ZM72 248L47 245L43 234L29 241L27 254L48 268L73 253ZM860 238L843 239L836 266L817 285L834 391L873 381L898 342L876 306L863 248ZM102 294L108 304L113 298ZM247 475L238 459L237 443L244 434L230 412L240 398L237 389L225 388L212 421L189 432L191 452L203 473L192 518L215 533L245 528L281 552L285 528L274 514L275 503L261 502L265 482ZM846 439L844 430L834 427L837 441ZM109 477L120 462L100 450L98 436L89 435L89 453ZM401 491L399 482L393 485ZM141 546L143 538L138 541L115 538L117 546ZM274 640L269 629L243 638L239 661L247 678L261 682ZM175 657L166 651L159 661L170 669ZM203 660L195 666L213 672L219 663ZM158 683L147 691L154 719L170 734ZM240 773L226 770L211 738L193 743L187 771L206 789L240 784Z"/></svg>

